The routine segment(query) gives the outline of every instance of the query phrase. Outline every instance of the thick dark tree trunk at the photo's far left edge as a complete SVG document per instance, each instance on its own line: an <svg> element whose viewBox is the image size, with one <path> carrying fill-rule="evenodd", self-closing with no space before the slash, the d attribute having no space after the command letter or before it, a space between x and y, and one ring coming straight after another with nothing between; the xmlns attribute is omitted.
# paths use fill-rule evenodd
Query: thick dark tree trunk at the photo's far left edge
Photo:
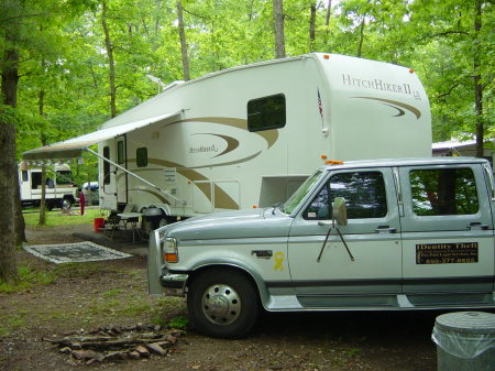
<svg viewBox="0 0 495 371"><path fill-rule="evenodd" d="M7 28L6 45L15 45L18 25ZM19 53L11 46L3 53L1 96L2 105L16 106ZM0 281L12 282L18 276L15 257L16 237L16 196L19 195L18 165L15 160L15 121L8 107L0 106ZM22 217L22 214L21 214Z"/></svg>

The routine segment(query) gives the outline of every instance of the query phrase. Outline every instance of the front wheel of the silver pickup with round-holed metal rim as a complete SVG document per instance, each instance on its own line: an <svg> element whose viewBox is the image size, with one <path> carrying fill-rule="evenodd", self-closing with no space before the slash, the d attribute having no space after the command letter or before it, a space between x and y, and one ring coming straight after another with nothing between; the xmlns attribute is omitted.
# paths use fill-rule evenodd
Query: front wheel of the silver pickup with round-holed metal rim
<svg viewBox="0 0 495 371"><path fill-rule="evenodd" d="M257 292L240 272L206 271L189 285L187 309L199 332L235 339L248 334L256 321Z"/></svg>

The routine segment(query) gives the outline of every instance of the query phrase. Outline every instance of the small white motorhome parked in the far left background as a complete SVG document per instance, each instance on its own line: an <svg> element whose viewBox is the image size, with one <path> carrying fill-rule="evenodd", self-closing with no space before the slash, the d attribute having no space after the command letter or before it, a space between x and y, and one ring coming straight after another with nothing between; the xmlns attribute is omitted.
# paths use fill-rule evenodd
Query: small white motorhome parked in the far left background
<svg viewBox="0 0 495 371"><path fill-rule="evenodd" d="M47 172L48 173L48 172ZM68 208L76 200L77 188L73 183L73 174L68 165L55 165L52 175L46 176L45 201L48 209ZM42 168L19 168L19 186L22 205L38 206L42 198Z"/></svg>

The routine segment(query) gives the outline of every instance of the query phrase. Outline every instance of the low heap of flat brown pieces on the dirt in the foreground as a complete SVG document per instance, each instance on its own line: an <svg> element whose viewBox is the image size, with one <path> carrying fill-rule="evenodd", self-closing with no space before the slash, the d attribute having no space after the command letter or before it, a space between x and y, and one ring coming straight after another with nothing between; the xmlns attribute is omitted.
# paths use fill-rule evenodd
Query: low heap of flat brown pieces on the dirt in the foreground
<svg viewBox="0 0 495 371"><path fill-rule="evenodd" d="M182 335L177 329L164 329L161 326L107 326L88 331L81 329L53 336L43 340L68 354L75 363L133 360L150 358L152 354L166 356Z"/></svg>

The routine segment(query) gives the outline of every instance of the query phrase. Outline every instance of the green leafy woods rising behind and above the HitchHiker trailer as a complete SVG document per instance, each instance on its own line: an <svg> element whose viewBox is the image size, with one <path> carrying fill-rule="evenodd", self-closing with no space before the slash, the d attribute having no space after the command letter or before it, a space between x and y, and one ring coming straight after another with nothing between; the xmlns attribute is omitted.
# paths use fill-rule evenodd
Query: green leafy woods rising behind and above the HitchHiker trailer
<svg viewBox="0 0 495 371"><path fill-rule="evenodd" d="M480 151L483 138L495 135L493 0L0 4L0 205L7 215L20 154L94 131L156 95L160 86L146 75L168 84L308 52L360 56L416 70L430 99L435 141L472 134ZM96 167L86 159L74 168L76 181L95 179ZM2 233L13 233L3 219Z"/></svg>

